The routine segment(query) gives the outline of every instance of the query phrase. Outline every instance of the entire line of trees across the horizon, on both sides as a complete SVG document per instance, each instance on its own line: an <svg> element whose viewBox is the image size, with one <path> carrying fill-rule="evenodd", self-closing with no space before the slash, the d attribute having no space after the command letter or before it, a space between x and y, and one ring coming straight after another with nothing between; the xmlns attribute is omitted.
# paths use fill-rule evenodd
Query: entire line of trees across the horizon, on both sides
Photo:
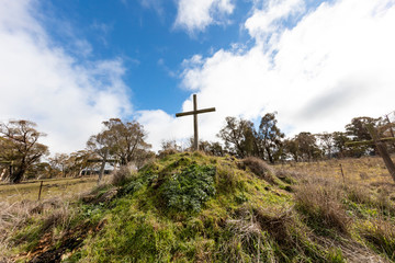
<svg viewBox="0 0 395 263"><path fill-rule="evenodd" d="M213 156L252 156L270 163L361 157L375 155L375 146L348 146L347 142L371 140L366 125L379 127L387 122L382 118L356 117L346 125L346 132L303 132L293 138L285 138L278 127L275 113L262 116L258 127L250 121L229 116L217 134L219 141L200 141L200 150ZM139 168L155 158L151 146L145 141L146 132L138 122L111 118L103 125L103 132L92 135L86 149L70 155L56 153L48 158L48 147L38 142L45 134L36 129L35 123L23 119L0 123L1 180L19 183L38 176L81 176L88 171L99 171L101 162L92 160L111 160L112 165L132 162ZM383 130L380 136L394 137L392 128ZM191 139L190 147L182 149L174 140L163 141L158 155L191 150L192 145ZM390 152L394 150L395 146L390 145ZM47 157L47 161L43 161L43 157Z"/></svg>

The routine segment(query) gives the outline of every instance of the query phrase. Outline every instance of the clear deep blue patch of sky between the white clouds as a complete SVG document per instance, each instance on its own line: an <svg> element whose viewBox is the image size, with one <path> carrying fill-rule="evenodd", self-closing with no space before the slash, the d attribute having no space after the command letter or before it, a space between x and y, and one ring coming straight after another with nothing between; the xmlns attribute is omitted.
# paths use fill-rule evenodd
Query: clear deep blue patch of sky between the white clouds
<svg viewBox="0 0 395 263"><path fill-rule="evenodd" d="M180 89L182 61L195 54L210 56L232 43L250 41L240 23L252 2L240 1L226 24L191 33L174 25L176 2L150 2L154 1L41 1L38 18L55 45L67 48L81 61L121 58L135 110L161 108L171 113L179 111L190 95ZM65 23L72 31L71 36L63 32ZM91 49L87 56L74 52L81 47L76 47L72 39L68 44L76 37Z"/></svg>

